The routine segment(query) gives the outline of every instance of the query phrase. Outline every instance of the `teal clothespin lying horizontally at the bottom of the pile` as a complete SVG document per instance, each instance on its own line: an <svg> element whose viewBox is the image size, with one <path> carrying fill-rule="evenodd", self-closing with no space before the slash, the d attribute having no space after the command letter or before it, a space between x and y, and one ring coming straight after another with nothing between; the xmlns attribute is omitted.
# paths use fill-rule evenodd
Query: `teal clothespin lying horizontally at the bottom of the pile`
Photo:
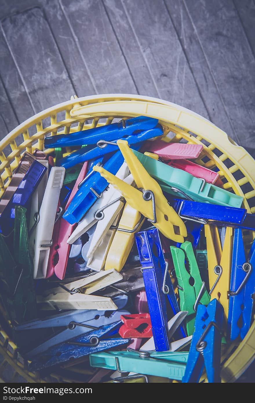
<svg viewBox="0 0 255 403"><path fill-rule="evenodd" d="M91 354L89 362L92 367L182 380L188 354L170 351L108 351Z"/></svg>

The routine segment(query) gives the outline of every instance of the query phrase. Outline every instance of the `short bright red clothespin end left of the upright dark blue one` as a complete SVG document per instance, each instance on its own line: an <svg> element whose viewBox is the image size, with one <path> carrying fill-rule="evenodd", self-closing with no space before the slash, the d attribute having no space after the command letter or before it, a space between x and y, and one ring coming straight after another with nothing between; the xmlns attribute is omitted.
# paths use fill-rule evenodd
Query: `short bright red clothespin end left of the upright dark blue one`
<svg viewBox="0 0 255 403"><path fill-rule="evenodd" d="M149 314L121 315L120 319L124 323L119 329L122 339L152 337L151 318Z"/></svg>

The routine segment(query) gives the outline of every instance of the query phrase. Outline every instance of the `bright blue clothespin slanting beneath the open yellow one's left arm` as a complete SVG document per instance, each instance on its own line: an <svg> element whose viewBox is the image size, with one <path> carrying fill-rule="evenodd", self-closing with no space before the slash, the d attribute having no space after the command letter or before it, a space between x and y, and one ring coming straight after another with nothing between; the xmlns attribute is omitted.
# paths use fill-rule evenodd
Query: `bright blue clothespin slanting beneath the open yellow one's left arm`
<svg viewBox="0 0 255 403"><path fill-rule="evenodd" d="M104 161L103 161L104 162ZM123 164L124 158L120 151L117 151L104 164L112 174L116 174L120 166ZM94 168L98 168L93 166ZM92 172L90 177L81 185L73 197L72 202L66 209L63 218L70 224L79 222L87 211L93 206L96 200L101 196L102 192L108 186L106 179L102 178L98 172Z"/></svg>

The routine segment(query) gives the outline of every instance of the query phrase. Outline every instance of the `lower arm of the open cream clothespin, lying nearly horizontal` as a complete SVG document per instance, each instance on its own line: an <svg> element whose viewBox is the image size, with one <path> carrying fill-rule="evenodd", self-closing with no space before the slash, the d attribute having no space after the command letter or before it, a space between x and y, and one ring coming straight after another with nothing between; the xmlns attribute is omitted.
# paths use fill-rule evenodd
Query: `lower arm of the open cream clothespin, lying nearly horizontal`
<svg viewBox="0 0 255 403"><path fill-rule="evenodd" d="M64 290L56 295L52 293L46 296L38 295L37 304L42 310L96 309L98 311L115 311L118 309L111 298L80 293L70 294Z"/></svg>

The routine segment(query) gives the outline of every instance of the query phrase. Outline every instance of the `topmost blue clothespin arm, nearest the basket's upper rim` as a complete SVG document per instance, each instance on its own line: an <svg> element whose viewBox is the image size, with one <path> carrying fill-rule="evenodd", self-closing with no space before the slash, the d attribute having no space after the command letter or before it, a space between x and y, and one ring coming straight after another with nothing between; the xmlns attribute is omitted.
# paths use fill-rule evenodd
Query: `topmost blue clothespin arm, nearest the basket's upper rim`
<svg viewBox="0 0 255 403"><path fill-rule="evenodd" d="M138 131L154 129L158 119L147 116L120 120L118 123L78 131L76 133L56 135L44 139L45 148L68 147L75 145L96 144L100 140L113 141L133 135Z"/></svg>

